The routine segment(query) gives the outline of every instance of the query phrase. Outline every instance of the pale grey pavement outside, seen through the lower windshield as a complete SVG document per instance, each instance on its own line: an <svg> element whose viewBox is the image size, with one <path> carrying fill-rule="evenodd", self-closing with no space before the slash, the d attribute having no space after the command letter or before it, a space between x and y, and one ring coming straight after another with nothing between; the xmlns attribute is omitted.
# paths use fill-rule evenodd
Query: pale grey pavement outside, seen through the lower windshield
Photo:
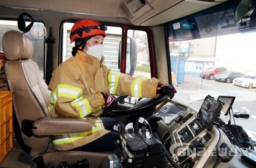
<svg viewBox="0 0 256 168"><path fill-rule="evenodd" d="M246 129L249 137L256 139L256 88L242 88L234 86L233 83L201 79L199 75L185 75L184 82L178 83L176 89L176 99L187 102L198 109L208 94L216 99L219 95L236 97L232 110L236 111L240 110L241 107L246 107L250 111L251 116L248 119L235 118L235 122L237 125L241 125L244 129ZM223 116L222 119L225 122L228 122L229 116ZM234 124L232 115L231 124Z"/></svg>

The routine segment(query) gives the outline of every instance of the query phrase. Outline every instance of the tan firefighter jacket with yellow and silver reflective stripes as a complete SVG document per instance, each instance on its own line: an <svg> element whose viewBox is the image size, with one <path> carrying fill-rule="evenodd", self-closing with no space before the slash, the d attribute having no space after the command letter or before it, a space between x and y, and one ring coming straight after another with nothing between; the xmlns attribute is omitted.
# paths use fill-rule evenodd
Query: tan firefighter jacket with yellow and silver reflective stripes
<svg viewBox="0 0 256 168"><path fill-rule="evenodd" d="M155 98L159 79L136 78L115 73L101 61L78 51L76 56L63 62L52 74L48 89L51 90L50 116L87 118L90 131L52 136L56 150L70 150L109 133L99 119L104 108L101 92L133 97Z"/></svg>

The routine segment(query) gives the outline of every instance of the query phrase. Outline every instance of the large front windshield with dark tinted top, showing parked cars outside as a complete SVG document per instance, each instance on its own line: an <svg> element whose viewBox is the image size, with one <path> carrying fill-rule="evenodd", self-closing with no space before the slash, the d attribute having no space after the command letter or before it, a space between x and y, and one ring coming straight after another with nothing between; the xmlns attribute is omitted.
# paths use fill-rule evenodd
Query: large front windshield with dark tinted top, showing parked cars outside
<svg viewBox="0 0 256 168"><path fill-rule="evenodd" d="M256 137L256 128L251 127L256 118L256 82L236 80L242 75L255 79L255 53L251 49L256 43L256 12L253 11L250 21L236 23L236 6L236 1L228 1L166 23L170 71L175 76L172 76L177 89L175 98L198 109L208 94L215 99L219 95L236 97L230 114L244 112L243 107L246 107L251 117L236 118L236 124ZM236 74L218 76L230 75L232 71ZM221 117L225 122L230 119L229 115Z"/></svg>

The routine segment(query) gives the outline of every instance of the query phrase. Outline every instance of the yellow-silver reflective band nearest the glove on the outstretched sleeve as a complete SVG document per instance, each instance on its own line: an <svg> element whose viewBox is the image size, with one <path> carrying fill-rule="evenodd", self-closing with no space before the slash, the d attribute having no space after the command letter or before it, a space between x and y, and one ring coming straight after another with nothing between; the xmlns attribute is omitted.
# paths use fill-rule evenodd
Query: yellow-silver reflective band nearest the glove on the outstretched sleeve
<svg viewBox="0 0 256 168"><path fill-rule="evenodd" d="M136 79L132 82L132 86L131 86L132 97L142 98L142 91L141 91L142 82L146 80L149 80L149 79L144 76L136 77Z"/></svg>

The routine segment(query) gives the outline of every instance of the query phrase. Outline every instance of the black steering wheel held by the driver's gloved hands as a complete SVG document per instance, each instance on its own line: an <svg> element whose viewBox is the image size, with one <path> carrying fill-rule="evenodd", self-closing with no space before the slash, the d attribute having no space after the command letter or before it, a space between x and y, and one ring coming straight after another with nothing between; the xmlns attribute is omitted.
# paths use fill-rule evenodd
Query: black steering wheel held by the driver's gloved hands
<svg viewBox="0 0 256 168"><path fill-rule="evenodd" d="M145 99L145 100L143 100L141 102L138 102L137 104L132 106L130 109L112 110L112 111L109 111L109 113L112 114L112 115L131 115L131 114L136 114L138 112L142 112L142 111L148 110L151 107L156 106L157 104L160 104L160 103L164 102L166 99L168 99L168 97L169 97L168 95L159 94L157 98L147 98L147 99ZM122 97L122 99L124 99L124 98L125 97Z"/></svg>

